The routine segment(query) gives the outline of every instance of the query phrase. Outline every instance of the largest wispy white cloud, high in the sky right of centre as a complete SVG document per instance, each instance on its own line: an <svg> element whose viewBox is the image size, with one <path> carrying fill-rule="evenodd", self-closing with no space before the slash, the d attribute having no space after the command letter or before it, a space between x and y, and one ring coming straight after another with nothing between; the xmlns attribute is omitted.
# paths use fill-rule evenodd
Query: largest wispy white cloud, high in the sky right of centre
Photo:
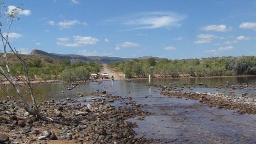
<svg viewBox="0 0 256 144"><path fill-rule="evenodd" d="M173 12L142 12L109 19L108 22L130 26L128 30L180 27L186 16Z"/></svg>

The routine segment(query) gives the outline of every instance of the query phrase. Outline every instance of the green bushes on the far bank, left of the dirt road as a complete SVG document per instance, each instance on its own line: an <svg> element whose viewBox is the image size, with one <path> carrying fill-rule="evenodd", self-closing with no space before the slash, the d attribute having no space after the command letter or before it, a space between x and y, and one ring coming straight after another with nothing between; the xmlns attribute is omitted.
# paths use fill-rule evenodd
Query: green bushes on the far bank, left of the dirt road
<svg viewBox="0 0 256 144"><path fill-rule="evenodd" d="M51 58L46 59L51 63ZM62 80L62 81L75 81L75 80L88 80L91 73L99 72L102 69L101 62L76 61L71 62L69 59L59 60L58 64L48 65L43 64L39 58L26 62L28 66L28 74L32 79L40 78L46 80ZM5 64L0 64L6 69ZM24 76L22 64L12 64L10 72L14 77Z"/></svg>

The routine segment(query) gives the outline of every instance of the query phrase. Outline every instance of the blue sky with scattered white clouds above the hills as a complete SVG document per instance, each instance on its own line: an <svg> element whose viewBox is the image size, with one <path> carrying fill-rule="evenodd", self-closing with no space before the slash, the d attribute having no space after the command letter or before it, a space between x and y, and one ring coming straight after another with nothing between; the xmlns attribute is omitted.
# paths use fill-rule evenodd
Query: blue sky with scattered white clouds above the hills
<svg viewBox="0 0 256 144"><path fill-rule="evenodd" d="M7 11L22 4L9 36L22 54L38 49L123 58L256 55L254 0L1 2Z"/></svg>

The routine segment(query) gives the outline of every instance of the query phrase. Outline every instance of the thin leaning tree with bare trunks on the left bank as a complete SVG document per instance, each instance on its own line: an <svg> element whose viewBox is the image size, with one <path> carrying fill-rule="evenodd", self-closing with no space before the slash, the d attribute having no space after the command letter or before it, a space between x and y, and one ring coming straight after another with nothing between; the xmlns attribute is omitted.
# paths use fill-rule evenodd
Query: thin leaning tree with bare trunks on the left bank
<svg viewBox="0 0 256 144"><path fill-rule="evenodd" d="M5 4L0 3L0 18L5 22L5 24L0 22L0 36L1 36L3 49L4 49L4 51L2 52L2 56L4 57L4 64L5 64L5 68L0 66L0 74L2 74L2 76L4 76L4 78L6 78L6 80L8 80L8 82L10 82L10 84L15 88L15 90L20 98L20 101L24 105L25 110L34 116L40 117L41 114L38 110L36 100L35 100L35 97L34 97L34 94L32 91L32 86L30 84L30 79L28 76L28 67L26 65L26 62L21 58L19 52L15 49L15 47L13 47L10 44L10 42L8 41L8 36L10 34L10 28L11 28L14 20L19 19L18 15L19 15L19 12L21 12L22 8L16 6L12 10L3 11L5 8L6 8ZM4 29L4 28L2 28L3 26L6 26L6 32L3 31L3 29ZM30 97L32 99L32 104L25 102L24 95L22 95L21 90L18 86L18 83L12 76L12 73L10 71L10 66L8 63L8 57L6 55L8 52L7 49L10 50L18 58L20 64L22 64L22 68L23 68L23 71L25 74L24 83L28 86L28 91L26 91L26 92L28 92L28 94L30 94Z"/></svg>

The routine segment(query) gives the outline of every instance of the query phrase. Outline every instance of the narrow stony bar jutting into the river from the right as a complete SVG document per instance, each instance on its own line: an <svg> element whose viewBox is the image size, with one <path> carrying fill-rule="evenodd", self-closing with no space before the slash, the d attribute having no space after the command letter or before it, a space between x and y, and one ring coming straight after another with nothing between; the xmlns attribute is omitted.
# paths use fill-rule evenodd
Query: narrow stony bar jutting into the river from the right
<svg viewBox="0 0 256 144"><path fill-rule="evenodd" d="M168 90L167 87L163 87L161 94L175 96L176 98L190 98L223 109L238 109L237 112L240 114L256 114L256 98L246 94L200 93L186 90Z"/></svg>

